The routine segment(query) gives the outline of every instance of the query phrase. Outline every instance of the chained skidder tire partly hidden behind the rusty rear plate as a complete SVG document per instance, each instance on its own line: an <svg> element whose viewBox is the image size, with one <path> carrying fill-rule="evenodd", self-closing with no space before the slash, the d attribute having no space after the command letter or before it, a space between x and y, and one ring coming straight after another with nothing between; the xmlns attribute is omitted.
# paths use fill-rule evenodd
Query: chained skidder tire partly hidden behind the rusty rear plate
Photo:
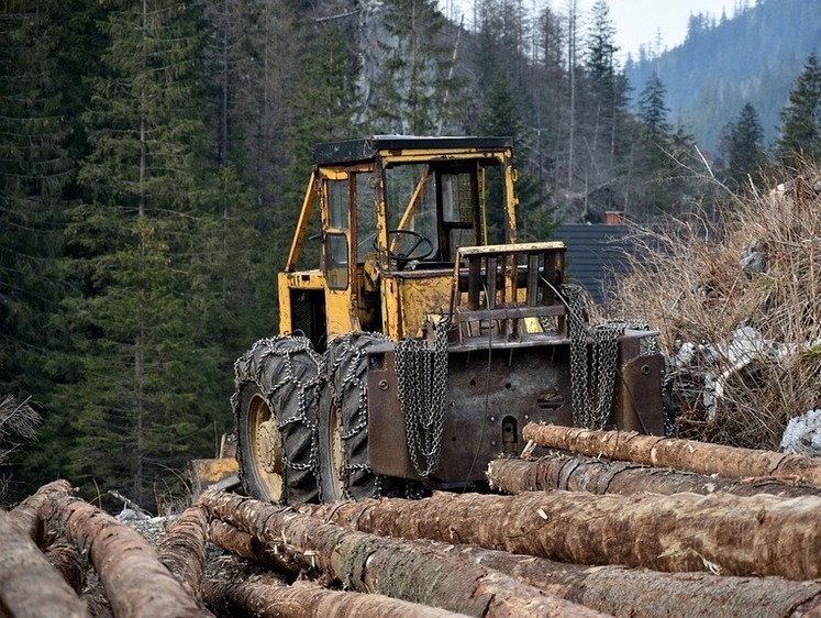
<svg viewBox="0 0 821 618"><path fill-rule="evenodd" d="M401 478L374 473L368 465L367 350L390 341L378 333L350 333L325 352L325 382L317 411L320 499L404 496Z"/></svg>

